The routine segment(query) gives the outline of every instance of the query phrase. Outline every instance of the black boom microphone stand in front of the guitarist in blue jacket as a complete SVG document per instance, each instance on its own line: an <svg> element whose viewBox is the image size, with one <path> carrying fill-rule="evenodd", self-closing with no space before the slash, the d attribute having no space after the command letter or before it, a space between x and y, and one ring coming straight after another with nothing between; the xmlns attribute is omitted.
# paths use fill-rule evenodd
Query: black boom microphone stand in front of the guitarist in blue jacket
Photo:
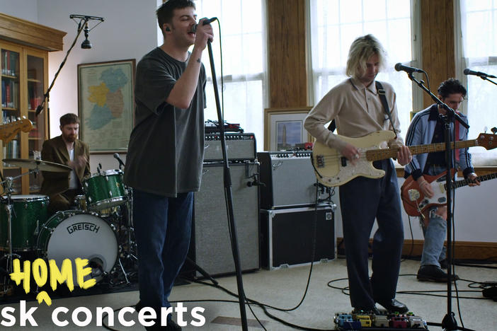
<svg viewBox="0 0 497 331"><path fill-rule="evenodd" d="M457 115L452 108L447 106L445 103L437 98L433 93L431 93L428 88L424 86L423 81L418 81L412 73L409 73L409 79L414 83L418 84L418 86L428 93L430 97L437 103L438 107L444 108L447 112L445 116L439 115L439 117L444 121L444 132L445 132L445 163L447 164L447 172L445 173L445 187L446 196L447 196L447 314L442 320L442 327L445 331L454 331L457 330L457 321L455 320L455 315L452 312L452 191L453 185L450 185L452 182L452 144L450 141L450 123L455 123L454 119L457 120L463 127L469 129L469 125L462 120L462 118Z"/></svg>

